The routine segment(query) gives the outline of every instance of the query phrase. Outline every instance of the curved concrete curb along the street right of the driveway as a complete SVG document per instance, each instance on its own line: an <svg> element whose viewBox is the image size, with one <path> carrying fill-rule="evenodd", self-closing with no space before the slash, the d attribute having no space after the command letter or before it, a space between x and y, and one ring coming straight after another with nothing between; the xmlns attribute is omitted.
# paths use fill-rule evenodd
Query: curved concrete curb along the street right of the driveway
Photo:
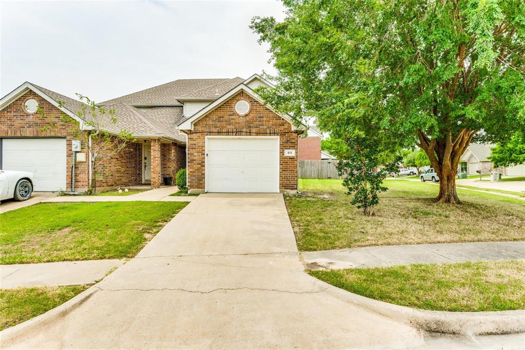
<svg viewBox="0 0 525 350"><path fill-rule="evenodd" d="M312 277L314 278L314 277ZM493 335L525 332L525 310L453 312L395 305L354 294L318 280L342 301L359 305L419 330L455 335Z"/></svg>

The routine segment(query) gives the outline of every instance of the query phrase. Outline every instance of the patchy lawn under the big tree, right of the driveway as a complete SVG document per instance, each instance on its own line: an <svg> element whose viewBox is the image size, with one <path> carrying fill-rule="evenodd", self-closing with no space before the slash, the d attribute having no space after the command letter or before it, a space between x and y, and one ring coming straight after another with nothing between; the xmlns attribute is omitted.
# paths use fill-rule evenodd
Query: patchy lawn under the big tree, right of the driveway
<svg viewBox="0 0 525 350"><path fill-rule="evenodd" d="M458 189L463 204L432 201L430 183L385 180L374 217L350 204L341 180L301 179L285 202L301 251L370 245L525 240L525 202Z"/></svg>

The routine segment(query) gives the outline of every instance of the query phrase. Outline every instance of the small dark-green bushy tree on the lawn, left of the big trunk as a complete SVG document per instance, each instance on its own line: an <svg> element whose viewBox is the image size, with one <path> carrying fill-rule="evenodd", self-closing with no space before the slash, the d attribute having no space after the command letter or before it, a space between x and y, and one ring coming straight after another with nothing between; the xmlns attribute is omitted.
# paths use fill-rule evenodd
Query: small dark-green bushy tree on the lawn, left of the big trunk
<svg viewBox="0 0 525 350"><path fill-rule="evenodd" d="M377 143L366 137L354 136L347 141L351 152L347 159L339 162L337 170L345 176L343 186L348 189L346 194L353 194L352 204L363 209L367 216L374 215L374 207L379 203L377 193L388 190L382 186L383 180L392 172L399 170L401 156L380 167L381 152Z"/></svg>

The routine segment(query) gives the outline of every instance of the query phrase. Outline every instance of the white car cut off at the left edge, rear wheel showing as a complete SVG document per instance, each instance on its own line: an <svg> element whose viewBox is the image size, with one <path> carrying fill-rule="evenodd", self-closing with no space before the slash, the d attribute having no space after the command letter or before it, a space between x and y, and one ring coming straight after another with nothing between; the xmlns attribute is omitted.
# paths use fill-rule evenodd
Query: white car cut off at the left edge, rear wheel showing
<svg viewBox="0 0 525 350"><path fill-rule="evenodd" d="M14 198L25 201L33 193L33 173L28 171L0 170L0 201Z"/></svg>

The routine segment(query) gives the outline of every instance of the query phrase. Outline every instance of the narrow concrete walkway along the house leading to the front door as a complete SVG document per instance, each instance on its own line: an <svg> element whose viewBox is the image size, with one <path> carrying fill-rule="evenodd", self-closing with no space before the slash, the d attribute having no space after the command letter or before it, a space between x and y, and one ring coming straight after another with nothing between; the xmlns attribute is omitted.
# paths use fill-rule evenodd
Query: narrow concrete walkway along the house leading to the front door
<svg viewBox="0 0 525 350"><path fill-rule="evenodd" d="M130 195L63 195L43 202L131 202L131 201L161 201L161 202L191 202L194 195L170 196L178 191L176 186L161 187Z"/></svg>

